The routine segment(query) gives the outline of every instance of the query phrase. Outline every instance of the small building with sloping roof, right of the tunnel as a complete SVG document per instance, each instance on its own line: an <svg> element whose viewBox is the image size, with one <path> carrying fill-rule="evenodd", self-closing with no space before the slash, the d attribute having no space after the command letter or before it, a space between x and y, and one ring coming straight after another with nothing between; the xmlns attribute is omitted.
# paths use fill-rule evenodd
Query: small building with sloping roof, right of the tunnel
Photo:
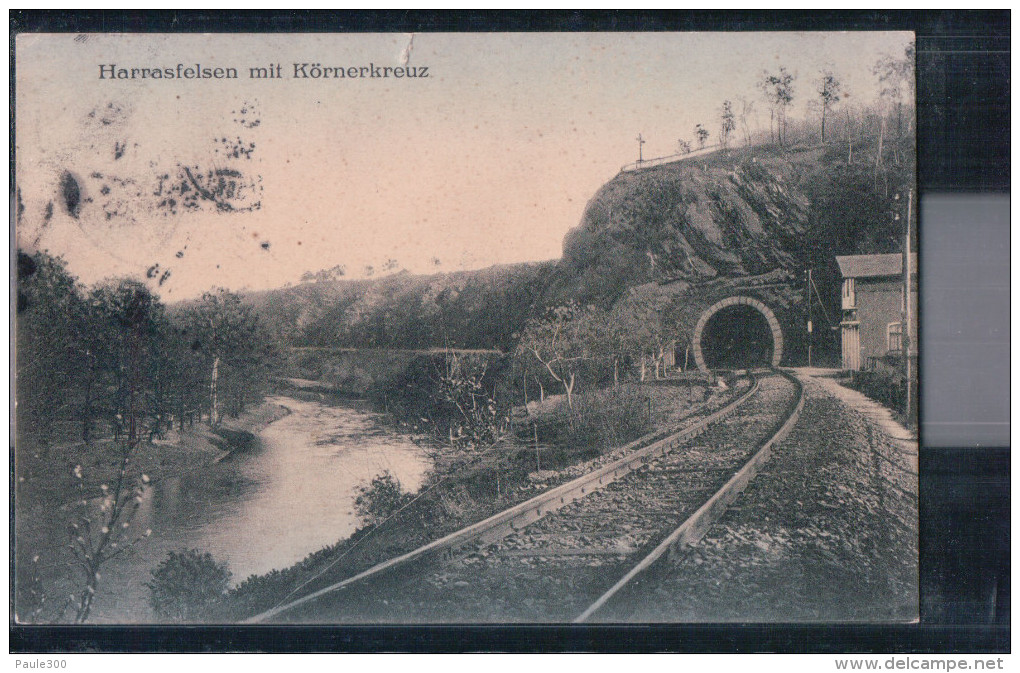
<svg viewBox="0 0 1020 673"><path fill-rule="evenodd" d="M913 271L908 319L913 343L909 352L910 357L917 357L917 255L910 257ZM904 256L848 255L835 261L843 275L843 368L899 371L905 354L903 322L908 307Z"/></svg>

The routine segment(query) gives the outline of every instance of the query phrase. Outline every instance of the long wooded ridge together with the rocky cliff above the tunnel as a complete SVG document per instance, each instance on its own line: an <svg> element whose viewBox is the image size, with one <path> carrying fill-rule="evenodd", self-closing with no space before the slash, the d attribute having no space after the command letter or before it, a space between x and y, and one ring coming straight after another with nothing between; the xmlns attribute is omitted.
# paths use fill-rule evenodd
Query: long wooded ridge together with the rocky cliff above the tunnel
<svg viewBox="0 0 1020 673"><path fill-rule="evenodd" d="M621 172L591 199L558 261L431 275L320 280L249 293L295 346L421 349L514 346L527 318L576 300L610 308L628 289L762 276L800 283L815 269L838 317L836 255L898 252L913 143L720 150ZM898 195L899 198L898 198Z"/></svg>

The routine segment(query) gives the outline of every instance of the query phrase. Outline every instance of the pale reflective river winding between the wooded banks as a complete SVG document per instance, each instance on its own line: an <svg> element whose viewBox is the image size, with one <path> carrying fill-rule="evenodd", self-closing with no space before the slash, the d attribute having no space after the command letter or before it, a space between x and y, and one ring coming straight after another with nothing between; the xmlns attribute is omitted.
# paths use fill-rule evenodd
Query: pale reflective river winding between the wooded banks
<svg viewBox="0 0 1020 673"><path fill-rule="evenodd" d="M211 553L227 563L234 584L291 566L354 532L360 485L389 471L414 491L431 467L422 449L363 404L269 401L291 414L255 448L148 488L132 527L152 536L105 569L90 621L151 621L145 582L170 551Z"/></svg>

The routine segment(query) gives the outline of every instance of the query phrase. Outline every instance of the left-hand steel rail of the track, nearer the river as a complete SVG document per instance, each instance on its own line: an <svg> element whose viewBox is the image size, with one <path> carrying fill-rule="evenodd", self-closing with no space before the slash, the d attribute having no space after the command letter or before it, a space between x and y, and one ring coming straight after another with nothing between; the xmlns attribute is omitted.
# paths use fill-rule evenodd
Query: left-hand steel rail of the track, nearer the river
<svg viewBox="0 0 1020 673"><path fill-rule="evenodd" d="M519 530L527 525L530 525L531 523L534 523L542 517L555 512L561 507L564 507L579 498L595 493L596 490L613 483L617 479L632 472L638 467L645 465L653 458L664 456L682 443L704 433L708 429L709 425L726 418L741 405L747 402L755 393L758 392L759 384L758 378L753 377L751 387L738 398L726 404L724 407L714 411L697 423L679 430L678 432L674 432L661 439L653 442L647 447L638 449L619 460L616 460L597 470L593 470L592 472L579 476L576 479L572 479L566 483L560 484L559 486L550 488L544 494L540 494L527 501L524 501L523 503L519 503L509 509L498 512L487 519L449 533L439 539L428 542L427 545L407 552L406 554L402 554L378 563L367 570L357 573L356 575L352 575L351 577L315 590L290 603L276 606L275 608L261 612L253 617L249 617L241 623L258 624L265 622L266 620L272 619L273 617L276 617L285 612L289 612L294 608L311 603L312 601L328 593L345 589L352 584L364 581L369 577L406 566L413 561L436 556L444 559L452 558L455 550L469 542L494 542L502 539L515 530ZM634 444L640 442L641 439Z"/></svg>

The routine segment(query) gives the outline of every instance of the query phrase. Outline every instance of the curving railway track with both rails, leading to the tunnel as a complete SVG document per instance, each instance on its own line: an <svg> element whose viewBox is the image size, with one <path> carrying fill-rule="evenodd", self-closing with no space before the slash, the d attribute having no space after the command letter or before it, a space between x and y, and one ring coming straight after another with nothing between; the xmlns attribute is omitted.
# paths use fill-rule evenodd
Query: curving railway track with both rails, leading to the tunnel
<svg viewBox="0 0 1020 673"><path fill-rule="evenodd" d="M249 621L592 619L659 559L700 539L796 422L800 383L781 372L755 378L681 432Z"/></svg>

